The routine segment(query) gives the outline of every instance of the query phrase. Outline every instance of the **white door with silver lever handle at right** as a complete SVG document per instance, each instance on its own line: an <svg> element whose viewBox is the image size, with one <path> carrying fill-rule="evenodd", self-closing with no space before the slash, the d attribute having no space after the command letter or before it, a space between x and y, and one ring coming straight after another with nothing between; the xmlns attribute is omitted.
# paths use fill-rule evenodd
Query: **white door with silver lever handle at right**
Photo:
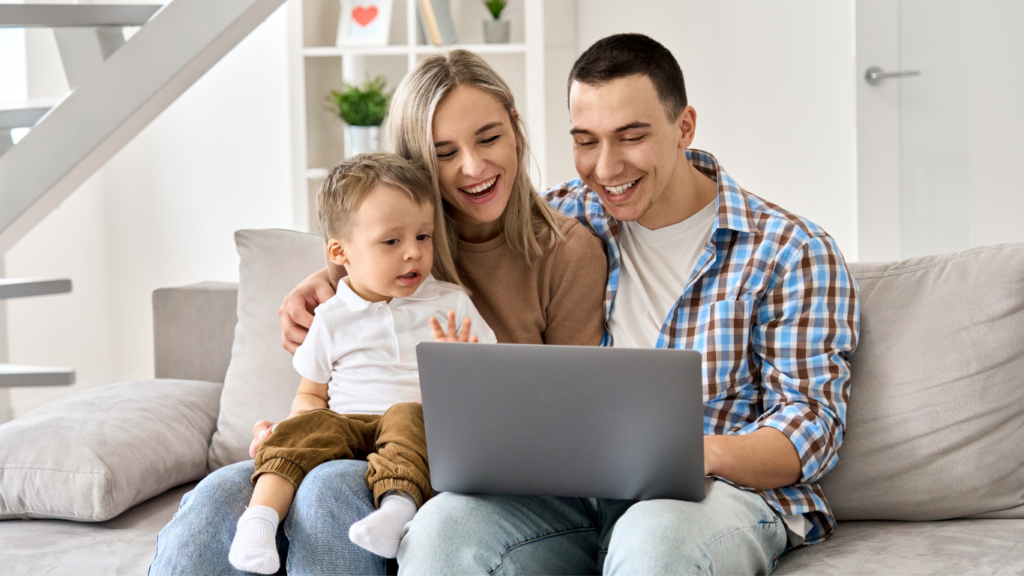
<svg viewBox="0 0 1024 576"><path fill-rule="evenodd" d="M858 0L857 44L860 259L1024 242L1024 2Z"/></svg>

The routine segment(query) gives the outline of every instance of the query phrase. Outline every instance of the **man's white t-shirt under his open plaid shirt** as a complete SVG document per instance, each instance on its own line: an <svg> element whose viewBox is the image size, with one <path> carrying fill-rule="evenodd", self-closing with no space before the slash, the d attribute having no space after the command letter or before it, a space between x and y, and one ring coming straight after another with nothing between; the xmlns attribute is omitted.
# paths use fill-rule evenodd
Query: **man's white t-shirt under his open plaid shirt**
<svg viewBox="0 0 1024 576"><path fill-rule="evenodd" d="M621 222L615 305L608 332L615 347L650 348L693 275L718 215L712 202L685 220L649 230Z"/></svg>

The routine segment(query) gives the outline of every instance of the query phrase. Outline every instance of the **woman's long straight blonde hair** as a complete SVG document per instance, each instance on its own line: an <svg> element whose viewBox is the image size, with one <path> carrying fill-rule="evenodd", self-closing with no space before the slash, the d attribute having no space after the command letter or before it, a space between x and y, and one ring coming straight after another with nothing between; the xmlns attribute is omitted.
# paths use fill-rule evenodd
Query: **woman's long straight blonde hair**
<svg viewBox="0 0 1024 576"><path fill-rule="evenodd" d="M384 139L390 152L422 164L430 171L434 191L440 196L437 155L434 152L433 118L437 106L457 86L472 86L494 96L505 108L516 141L518 168L512 193L502 213L500 227L513 250L530 258L544 253L542 242L549 246L565 237L558 229L555 211L545 202L529 180L526 164L529 148L525 128L515 110L508 84L480 56L462 49L429 56L398 84L384 120ZM459 225L444 202L444 222L452 254L458 260Z"/></svg>

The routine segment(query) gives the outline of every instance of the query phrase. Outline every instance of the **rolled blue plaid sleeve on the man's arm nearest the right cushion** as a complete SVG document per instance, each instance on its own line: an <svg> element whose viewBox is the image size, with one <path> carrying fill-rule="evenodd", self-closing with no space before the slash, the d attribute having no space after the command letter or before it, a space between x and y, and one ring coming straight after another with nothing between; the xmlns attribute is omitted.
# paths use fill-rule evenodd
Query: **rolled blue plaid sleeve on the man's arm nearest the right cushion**
<svg viewBox="0 0 1024 576"><path fill-rule="evenodd" d="M831 238L810 238L759 306L752 347L764 412L741 431L784 434L800 455L798 484L816 482L838 461L858 331L856 285L839 248Z"/></svg>

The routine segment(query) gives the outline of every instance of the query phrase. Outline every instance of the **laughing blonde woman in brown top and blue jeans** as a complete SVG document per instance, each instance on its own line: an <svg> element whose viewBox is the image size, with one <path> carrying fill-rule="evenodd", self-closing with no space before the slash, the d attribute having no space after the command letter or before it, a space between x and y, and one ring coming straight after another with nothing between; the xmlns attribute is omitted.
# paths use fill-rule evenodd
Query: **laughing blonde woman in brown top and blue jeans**
<svg viewBox="0 0 1024 576"><path fill-rule="evenodd" d="M460 276L499 341L601 342L601 242L537 194L512 92L486 63L465 50L422 60L395 90L384 130L392 152L429 168ZM286 297L286 348L305 338L311 311L334 295L340 276L325 269ZM225 466L186 494L158 538L151 574L233 573L227 550L252 474L252 461ZM306 477L278 538L289 573L384 573L383 559L348 539L349 526L373 508L365 474L365 462L344 460Z"/></svg>

